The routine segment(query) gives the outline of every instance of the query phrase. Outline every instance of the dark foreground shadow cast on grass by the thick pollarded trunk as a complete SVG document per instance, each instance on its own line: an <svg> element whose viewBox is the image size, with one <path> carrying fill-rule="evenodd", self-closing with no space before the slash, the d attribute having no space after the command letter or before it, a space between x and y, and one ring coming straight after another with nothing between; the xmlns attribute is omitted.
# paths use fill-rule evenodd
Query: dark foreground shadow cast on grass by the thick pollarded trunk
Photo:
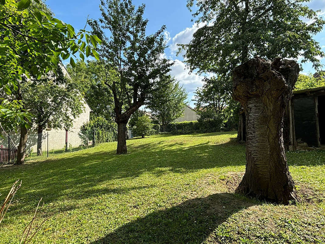
<svg viewBox="0 0 325 244"><path fill-rule="evenodd" d="M124 224L91 244L202 243L230 215L253 205L252 199L230 193L194 198Z"/></svg>

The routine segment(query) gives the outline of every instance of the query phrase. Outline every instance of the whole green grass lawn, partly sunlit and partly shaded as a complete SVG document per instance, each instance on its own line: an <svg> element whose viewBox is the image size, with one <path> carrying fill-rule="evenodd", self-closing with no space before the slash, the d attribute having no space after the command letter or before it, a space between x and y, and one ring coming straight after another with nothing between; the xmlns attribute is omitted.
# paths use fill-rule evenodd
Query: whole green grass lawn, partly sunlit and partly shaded
<svg viewBox="0 0 325 244"><path fill-rule="evenodd" d="M302 197L274 205L233 194L245 170L235 132L152 136L0 168L1 199L22 180L0 225L19 243L38 200L49 217L33 243L325 243L325 151L287 153ZM36 224L37 224L36 223Z"/></svg>

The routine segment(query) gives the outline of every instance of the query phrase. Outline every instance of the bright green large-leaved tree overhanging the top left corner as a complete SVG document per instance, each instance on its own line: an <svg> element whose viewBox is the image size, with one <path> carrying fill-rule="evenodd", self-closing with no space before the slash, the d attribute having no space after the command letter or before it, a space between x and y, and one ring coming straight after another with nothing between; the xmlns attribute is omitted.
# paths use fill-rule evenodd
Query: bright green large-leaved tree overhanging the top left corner
<svg viewBox="0 0 325 244"><path fill-rule="evenodd" d="M10 95L13 87L17 91L16 101L24 100L22 83L55 72L60 59L70 57L74 66L72 55L76 53L82 59L84 53L88 57L91 52L98 57L97 36L85 30L76 33L70 24L50 13L40 0L0 1L0 88ZM23 103L22 109L25 109ZM21 121L17 164L24 162L28 127L26 120Z"/></svg>

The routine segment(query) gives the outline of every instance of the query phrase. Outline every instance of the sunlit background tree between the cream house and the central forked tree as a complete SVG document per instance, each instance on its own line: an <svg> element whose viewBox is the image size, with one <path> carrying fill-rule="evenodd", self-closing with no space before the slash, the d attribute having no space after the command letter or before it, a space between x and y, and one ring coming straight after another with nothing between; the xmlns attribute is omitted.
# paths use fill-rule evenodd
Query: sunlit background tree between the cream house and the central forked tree
<svg viewBox="0 0 325 244"><path fill-rule="evenodd" d="M92 110L90 117L99 116L114 121L113 95L105 81L112 83L113 79L117 79L117 75L115 70L105 70L105 67L107 66L102 65L101 61L78 60L74 68L68 64L67 70L72 80L87 84L85 100Z"/></svg>

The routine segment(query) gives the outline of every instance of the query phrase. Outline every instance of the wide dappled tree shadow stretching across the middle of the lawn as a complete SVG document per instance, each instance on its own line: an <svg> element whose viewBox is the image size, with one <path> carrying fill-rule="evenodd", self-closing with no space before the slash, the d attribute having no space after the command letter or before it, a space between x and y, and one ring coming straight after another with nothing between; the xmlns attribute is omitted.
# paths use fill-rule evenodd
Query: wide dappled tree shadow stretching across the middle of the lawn
<svg viewBox="0 0 325 244"><path fill-rule="evenodd" d="M200 169L244 165L244 152L240 145L230 140L226 143L186 146L184 142L148 142L130 145L127 155L115 155L115 150L76 152L62 158L52 158L45 162L33 162L23 166L7 167L0 170L5 184L0 185L1 192L7 190L15 179L22 179L24 188L19 195L32 201L46 197L46 202L55 202L68 196L69 199L84 199L101 194L127 193L139 187L152 185L133 185L125 187L109 183L110 180L133 181L143 173L159 177L168 172L187 173ZM241 152L242 160L233 160ZM6 170L6 171L4 171ZM29 201L20 201L17 210L30 205Z"/></svg>

